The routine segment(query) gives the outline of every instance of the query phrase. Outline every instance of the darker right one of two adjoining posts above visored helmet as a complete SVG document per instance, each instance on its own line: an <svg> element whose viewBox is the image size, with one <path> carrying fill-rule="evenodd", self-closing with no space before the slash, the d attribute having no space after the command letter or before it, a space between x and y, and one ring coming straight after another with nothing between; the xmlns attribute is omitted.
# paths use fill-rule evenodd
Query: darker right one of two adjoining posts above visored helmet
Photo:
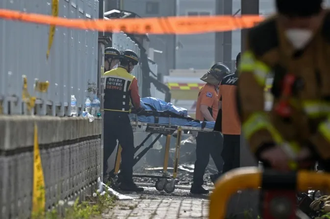
<svg viewBox="0 0 330 219"><path fill-rule="evenodd" d="M232 0L224 1L224 15L232 15ZM231 36L232 31L227 31L223 33L223 59L224 64L231 68Z"/></svg>

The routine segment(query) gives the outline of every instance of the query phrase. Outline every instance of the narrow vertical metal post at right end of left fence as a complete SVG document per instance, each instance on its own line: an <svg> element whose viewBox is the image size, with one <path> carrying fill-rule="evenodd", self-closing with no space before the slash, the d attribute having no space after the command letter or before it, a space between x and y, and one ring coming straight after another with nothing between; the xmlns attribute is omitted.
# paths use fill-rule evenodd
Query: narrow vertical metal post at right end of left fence
<svg viewBox="0 0 330 219"><path fill-rule="evenodd" d="M104 0L99 0L99 19L104 16ZM104 73L104 45L110 42L110 38L104 35L104 32L99 32L99 45L98 45L98 97L101 102L101 116L103 118L103 73ZM103 122L102 122L102 136L101 136L101 180L103 181Z"/></svg>

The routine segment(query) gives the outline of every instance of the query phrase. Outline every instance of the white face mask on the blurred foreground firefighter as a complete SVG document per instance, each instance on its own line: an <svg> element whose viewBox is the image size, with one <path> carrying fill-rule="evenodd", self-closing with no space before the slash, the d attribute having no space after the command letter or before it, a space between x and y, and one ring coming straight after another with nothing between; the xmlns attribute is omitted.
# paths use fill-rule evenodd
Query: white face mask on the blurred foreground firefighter
<svg viewBox="0 0 330 219"><path fill-rule="evenodd" d="M302 49L311 40L313 32L308 29L288 29L285 35L296 49Z"/></svg>

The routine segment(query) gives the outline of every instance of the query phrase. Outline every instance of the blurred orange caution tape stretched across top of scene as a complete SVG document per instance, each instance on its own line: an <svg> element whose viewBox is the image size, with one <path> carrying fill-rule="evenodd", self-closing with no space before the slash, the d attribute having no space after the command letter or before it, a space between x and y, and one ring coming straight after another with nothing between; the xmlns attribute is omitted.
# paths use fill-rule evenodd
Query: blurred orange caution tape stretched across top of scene
<svg viewBox="0 0 330 219"><path fill-rule="evenodd" d="M58 18L49 15L30 14L21 11L0 9L0 18L21 22L50 24L68 28L107 32L124 31L135 34L197 34L222 32L253 27L263 20L260 16L205 16L134 18L114 20L85 20Z"/></svg>

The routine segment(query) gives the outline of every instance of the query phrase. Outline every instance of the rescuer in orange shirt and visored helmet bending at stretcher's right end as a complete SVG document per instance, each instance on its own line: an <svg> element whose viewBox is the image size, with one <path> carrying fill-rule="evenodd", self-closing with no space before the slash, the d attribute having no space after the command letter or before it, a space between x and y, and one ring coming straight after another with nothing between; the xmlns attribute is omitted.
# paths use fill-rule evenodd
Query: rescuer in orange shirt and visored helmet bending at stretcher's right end
<svg viewBox="0 0 330 219"><path fill-rule="evenodd" d="M217 88L221 79L230 73L227 66L217 63L203 75L202 81L206 84L201 88L196 105L196 119L200 121L215 122L218 114L219 99ZM193 183L190 189L192 194L208 194L203 188L204 173L211 155L218 172L222 171L221 158L222 136L220 132L198 132L196 136L196 162Z"/></svg>

